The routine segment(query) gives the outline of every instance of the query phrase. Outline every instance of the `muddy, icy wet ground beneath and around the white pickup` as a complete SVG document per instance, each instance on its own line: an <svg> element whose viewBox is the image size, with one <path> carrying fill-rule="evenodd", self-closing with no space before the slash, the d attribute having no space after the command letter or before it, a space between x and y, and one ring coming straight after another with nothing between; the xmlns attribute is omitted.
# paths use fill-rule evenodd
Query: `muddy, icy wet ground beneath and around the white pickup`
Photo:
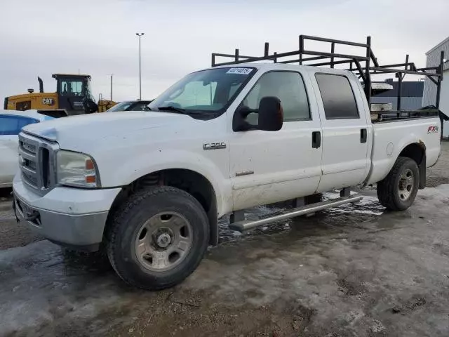
<svg viewBox="0 0 449 337"><path fill-rule="evenodd" d="M39 241L0 201L0 336L449 336L443 148L408 211L386 212L364 190L361 204L243 236L224 220L220 246L159 292Z"/></svg>

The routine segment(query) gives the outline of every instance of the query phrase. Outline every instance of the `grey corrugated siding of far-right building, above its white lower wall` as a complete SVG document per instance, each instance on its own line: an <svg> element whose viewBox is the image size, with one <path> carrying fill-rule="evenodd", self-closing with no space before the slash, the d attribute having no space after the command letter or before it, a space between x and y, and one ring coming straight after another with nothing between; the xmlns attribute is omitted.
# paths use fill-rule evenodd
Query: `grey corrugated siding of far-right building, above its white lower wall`
<svg viewBox="0 0 449 337"><path fill-rule="evenodd" d="M444 51L444 58L449 60L449 37L426 53L426 67L436 67L440 64L441 51ZM449 62L445 63L444 70L449 70ZM449 73L445 72L446 81L449 81L448 76ZM441 92L441 94L443 94L443 92ZM445 93L445 95L449 95L449 93ZM425 107L427 105L435 105L435 103L436 85L426 78L424 81L424 95L422 97L422 106Z"/></svg>

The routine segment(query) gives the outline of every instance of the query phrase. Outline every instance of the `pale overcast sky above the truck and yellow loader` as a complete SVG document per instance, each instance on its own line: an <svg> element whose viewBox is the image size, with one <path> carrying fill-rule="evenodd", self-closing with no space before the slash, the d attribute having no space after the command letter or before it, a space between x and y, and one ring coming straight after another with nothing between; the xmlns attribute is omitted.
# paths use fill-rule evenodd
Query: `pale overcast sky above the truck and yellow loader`
<svg viewBox="0 0 449 337"><path fill-rule="evenodd" d="M448 37L449 0L1 0L0 98L55 91L54 73L91 74L95 97L152 99L187 72L210 66L210 53L292 51L299 34L366 41L381 63L410 60ZM424 18L428 14L429 18ZM337 50L343 52L342 49Z"/></svg>

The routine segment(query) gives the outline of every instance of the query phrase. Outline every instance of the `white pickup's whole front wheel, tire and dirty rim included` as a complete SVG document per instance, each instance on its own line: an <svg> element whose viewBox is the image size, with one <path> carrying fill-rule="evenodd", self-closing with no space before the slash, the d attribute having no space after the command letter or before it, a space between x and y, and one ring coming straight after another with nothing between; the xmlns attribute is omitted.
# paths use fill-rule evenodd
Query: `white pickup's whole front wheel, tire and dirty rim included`
<svg viewBox="0 0 449 337"><path fill-rule="evenodd" d="M206 252L209 225L192 195L151 187L130 196L107 230L107 255L128 284L147 290L182 282Z"/></svg>

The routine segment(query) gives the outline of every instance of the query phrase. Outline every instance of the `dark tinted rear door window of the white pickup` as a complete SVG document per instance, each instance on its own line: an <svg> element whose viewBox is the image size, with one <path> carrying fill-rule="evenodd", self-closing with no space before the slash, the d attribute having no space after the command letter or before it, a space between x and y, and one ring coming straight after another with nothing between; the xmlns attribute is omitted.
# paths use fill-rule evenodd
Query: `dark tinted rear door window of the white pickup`
<svg viewBox="0 0 449 337"><path fill-rule="evenodd" d="M316 74L326 119L358 118L356 99L349 79L340 75Z"/></svg>

